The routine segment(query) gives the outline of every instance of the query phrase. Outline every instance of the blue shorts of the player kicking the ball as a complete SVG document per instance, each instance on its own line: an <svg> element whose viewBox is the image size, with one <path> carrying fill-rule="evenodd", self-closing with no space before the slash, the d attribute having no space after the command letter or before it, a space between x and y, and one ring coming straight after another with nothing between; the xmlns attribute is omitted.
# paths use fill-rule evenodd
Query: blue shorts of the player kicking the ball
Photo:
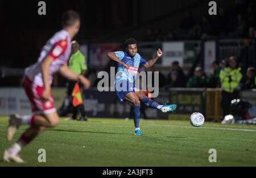
<svg viewBox="0 0 256 178"><path fill-rule="evenodd" d="M129 94L130 92L135 93L134 89L141 90L141 88L127 80L119 80L117 83L115 83L115 93L121 102L123 102L125 95Z"/></svg>

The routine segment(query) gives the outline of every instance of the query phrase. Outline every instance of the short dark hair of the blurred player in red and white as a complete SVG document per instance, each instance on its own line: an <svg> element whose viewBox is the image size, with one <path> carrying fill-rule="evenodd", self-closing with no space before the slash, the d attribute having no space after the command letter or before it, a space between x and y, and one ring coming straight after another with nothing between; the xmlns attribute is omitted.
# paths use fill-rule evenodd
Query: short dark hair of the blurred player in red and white
<svg viewBox="0 0 256 178"><path fill-rule="evenodd" d="M80 21L80 15L74 10L68 10L62 16L61 25L62 27L72 27L76 21Z"/></svg>

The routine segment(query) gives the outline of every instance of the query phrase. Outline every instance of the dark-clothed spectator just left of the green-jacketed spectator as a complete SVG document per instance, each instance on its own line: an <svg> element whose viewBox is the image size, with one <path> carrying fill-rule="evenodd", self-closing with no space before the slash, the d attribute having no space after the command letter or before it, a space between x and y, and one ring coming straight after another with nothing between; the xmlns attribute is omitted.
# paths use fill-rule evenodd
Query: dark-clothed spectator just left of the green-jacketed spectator
<svg viewBox="0 0 256 178"><path fill-rule="evenodd" d="M170 87L185 87L187 83L187 77L185 76L183 70L179 66L179 62L172 62L172 71L168 74L167 77L167 86Z"/></svg>

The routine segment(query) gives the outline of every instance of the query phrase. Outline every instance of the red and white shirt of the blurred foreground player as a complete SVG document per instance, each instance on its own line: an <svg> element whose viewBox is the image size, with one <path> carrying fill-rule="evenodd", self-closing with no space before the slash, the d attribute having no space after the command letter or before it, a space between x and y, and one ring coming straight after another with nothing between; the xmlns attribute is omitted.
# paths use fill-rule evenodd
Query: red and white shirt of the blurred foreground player
<svg viewBox="0 0 256 178"><path fill-rule="evenodd" d="M44 87L41 63L44 58L51 56L54 61L49 66L49 84L52 84L53 74L60 70L60 67L68 62L71 54L71 39L69 34L64 29L55 33L51 39L49 39L46 45L43 46L38 62L34 65L27 67L25 75L31 82L37 86Z"/></svg>

